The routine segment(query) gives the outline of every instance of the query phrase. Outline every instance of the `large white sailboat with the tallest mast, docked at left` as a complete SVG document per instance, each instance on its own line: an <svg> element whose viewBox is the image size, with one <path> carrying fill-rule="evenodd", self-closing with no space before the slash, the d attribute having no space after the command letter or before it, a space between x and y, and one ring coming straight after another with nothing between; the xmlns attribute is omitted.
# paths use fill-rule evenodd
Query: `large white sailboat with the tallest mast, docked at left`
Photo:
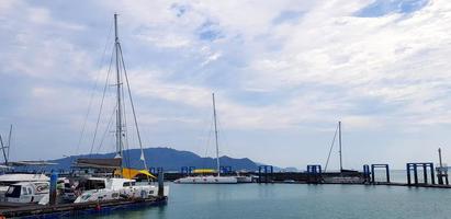
<svg viewBox="0 0 451 219"><path fill-rule="evenodd" d="M136 182L133 177L136 174L144 174L148 177L151 174L147 171L147 164L144 157L143 145L140 140L139 129L137 125L137 118L135 114L135 108L132 100L132 94L129 92L129 84L128 78L124 65L124 58L122 56L122 48L117 36L117 14L114 14L114 33L115 33L115 41L114 41L114 51L115 51L115 70L116 70L116 83L115 83L115 91L116 91L116 108L115 108L115 143L116 143L116 155L112 159L79 159L76 162L78 166L84 168L97 168L97 169L104 169L104 170L115 170L114 175L111 177L108 176L100 176L100 177L88 177L84 182L79 182L77 185L80 188L81 195L79 195L75 203L87 203L87 201L98 201L98 200L113 200L113 199L123 199L123 198L149 198L162 195L167 197L169 194L169 187L164 186L164 194L159 194L158 186L154 185L148 182ZM123 73L123 76L122 76ZM123 81L123 77L125 81ZM137 139L140 147L140 160L144 163L145 170L137 171L131 170L124 166L124 139L126 137L126 131L124 130L125 123L124 123L124 108L125 105L123 102L123 82L127 85L127 93L131 101L131 107L133 113L133 118L135 122L135 128L137 132ZM126 142L126 141L125 141ZM136 174L132 174L136 173ZM117 177L119 176L119 177Z"/></svg>

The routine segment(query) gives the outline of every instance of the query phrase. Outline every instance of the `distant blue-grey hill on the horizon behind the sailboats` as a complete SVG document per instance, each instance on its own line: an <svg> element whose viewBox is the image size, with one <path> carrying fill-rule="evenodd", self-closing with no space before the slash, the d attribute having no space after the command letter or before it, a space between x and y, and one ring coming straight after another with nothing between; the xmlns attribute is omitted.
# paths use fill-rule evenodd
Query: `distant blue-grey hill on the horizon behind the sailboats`
<svg viewBox="0 0 451 219"><path fill-rule="evenodd" d="M146 148L144 153L147 160L147 165L155 168L164 168L165 171L180 171L181 166L195 166L198 169L215 169L216 160L213 158L202 158L190 151L179 151L171 148ZM139 160L140 150L131 149L124 151L127 166L143 169L143 162ZM48 166L47 169L69 170L71 163L77 158L114 158L114 153L91 154L91 155L71 155L63 159L50 160L49 162L58 163L56 166ZM127 159L128 158L128 159ZM221 165L229 165L234 171L258 170L258 164L248 158L235 159L229 157L219 158Z"/></svg>

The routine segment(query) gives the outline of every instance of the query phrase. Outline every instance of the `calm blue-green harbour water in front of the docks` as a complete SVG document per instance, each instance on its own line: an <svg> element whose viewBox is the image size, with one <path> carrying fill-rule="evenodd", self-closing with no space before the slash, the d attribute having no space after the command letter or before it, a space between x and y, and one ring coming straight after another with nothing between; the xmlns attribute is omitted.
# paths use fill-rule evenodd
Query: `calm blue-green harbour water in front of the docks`
<svg viewBox="0 0 451 219"><path fill-rule="evenodd" d="M170 186L166 206L91 218L451 218L451 189L303 184Z"/></svg>

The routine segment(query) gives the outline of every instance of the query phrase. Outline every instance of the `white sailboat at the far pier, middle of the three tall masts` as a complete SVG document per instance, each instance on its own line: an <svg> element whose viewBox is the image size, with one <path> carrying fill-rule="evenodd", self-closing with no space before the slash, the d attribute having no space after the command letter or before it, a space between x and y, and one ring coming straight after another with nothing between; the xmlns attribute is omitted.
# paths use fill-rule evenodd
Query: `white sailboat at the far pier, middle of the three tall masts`
<svg viewBox="0 0 451 219"><path fill-rule="evenodd" d="M176 180L174 183L180 184L236 184L238 180L236 176L222 176L221 175L221 162L219 162L219 143L217 140L217 124L216 124L216 103L215 94L212 94L213 99L213 119L215 128L215 145L216 145L216 175L206 175L206 176L187 176L179 180Z"/></svg>

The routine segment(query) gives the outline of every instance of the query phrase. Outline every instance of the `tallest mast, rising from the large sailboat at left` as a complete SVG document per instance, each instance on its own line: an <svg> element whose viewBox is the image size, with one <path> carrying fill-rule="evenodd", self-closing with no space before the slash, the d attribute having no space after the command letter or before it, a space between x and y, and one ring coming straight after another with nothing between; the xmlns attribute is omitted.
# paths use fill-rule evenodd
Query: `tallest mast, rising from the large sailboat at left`
<svg viewBox="0 0 451 219"><path fill-rule="evenodd" d="M117 95L117 112L116 112L116 157L123 158L122 154L122 101L121 101L121 68L120 68L120 43L117 35L117 14L114 14L114 50L116 54L116 95Z"/></svg>

